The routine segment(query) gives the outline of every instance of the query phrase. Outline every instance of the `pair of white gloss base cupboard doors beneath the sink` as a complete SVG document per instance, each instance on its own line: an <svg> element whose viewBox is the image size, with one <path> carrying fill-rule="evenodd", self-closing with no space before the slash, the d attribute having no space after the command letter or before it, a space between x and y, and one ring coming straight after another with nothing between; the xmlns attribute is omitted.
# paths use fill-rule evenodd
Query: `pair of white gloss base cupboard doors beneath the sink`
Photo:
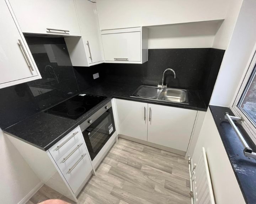
<svg viewBox="0 0 256 204"><path fill-rule="evenodd" d="M197 111L120 99L116 105L121 135L187 151Z"/></svg>

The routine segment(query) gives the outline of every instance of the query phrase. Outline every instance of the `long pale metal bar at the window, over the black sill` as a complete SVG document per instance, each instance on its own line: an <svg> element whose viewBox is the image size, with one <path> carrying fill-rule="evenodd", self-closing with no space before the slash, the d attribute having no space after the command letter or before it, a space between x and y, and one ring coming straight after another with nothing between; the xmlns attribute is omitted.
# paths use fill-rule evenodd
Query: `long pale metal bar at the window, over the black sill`
<svg viewBox="0 0 256 204"><path fill-rule="evenodd" d="M245 141L244 137L242 136L241 132L238 130L235 123L233 122L233 120L241 120L241 118L235 117L235 116L230 116L228 113L226 113L225 119L227 119L229 121L230 125L232 126L232 128L236 132L236 135L238 135L239 140L241 141L242 145L244 146L244 155L246 157L251 157L251 158L256 159L256 153L252 152L252 149L249 147L249 145Z"/></svg>

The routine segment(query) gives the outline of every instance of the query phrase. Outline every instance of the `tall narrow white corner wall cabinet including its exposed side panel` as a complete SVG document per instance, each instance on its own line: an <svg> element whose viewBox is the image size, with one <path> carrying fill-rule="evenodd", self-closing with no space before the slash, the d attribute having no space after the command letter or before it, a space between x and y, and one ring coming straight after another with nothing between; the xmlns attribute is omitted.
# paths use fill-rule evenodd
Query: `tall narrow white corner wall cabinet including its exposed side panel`
<svg viewBox="0 0 256 204"><path fill-rule="evenodd" d="M65 38L73 66L89 67L104 62L96 4L75 0L82 37Z"/></svg>

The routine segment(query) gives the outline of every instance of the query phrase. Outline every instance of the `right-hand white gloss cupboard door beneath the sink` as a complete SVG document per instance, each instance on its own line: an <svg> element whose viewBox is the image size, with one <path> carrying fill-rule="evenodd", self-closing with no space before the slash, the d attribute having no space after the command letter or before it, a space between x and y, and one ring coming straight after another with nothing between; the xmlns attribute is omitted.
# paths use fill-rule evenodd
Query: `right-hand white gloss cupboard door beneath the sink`
<svg viewBox="0 0 256 204"><path fill-rule="evenodd" d="M197 111L148 105L148 142L186 152Z"/></svg>

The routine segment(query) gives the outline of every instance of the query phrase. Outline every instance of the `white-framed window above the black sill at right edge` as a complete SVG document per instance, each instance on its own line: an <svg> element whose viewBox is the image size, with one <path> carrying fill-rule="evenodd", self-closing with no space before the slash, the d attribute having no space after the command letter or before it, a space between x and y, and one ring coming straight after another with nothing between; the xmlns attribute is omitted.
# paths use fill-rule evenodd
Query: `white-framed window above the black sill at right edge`
<svg viewBox="0 0 256 204"><path fill-rule="evenodd" d="M256 53L234 100L232 111L243 119L242 126L256 143Z"/></svg>

